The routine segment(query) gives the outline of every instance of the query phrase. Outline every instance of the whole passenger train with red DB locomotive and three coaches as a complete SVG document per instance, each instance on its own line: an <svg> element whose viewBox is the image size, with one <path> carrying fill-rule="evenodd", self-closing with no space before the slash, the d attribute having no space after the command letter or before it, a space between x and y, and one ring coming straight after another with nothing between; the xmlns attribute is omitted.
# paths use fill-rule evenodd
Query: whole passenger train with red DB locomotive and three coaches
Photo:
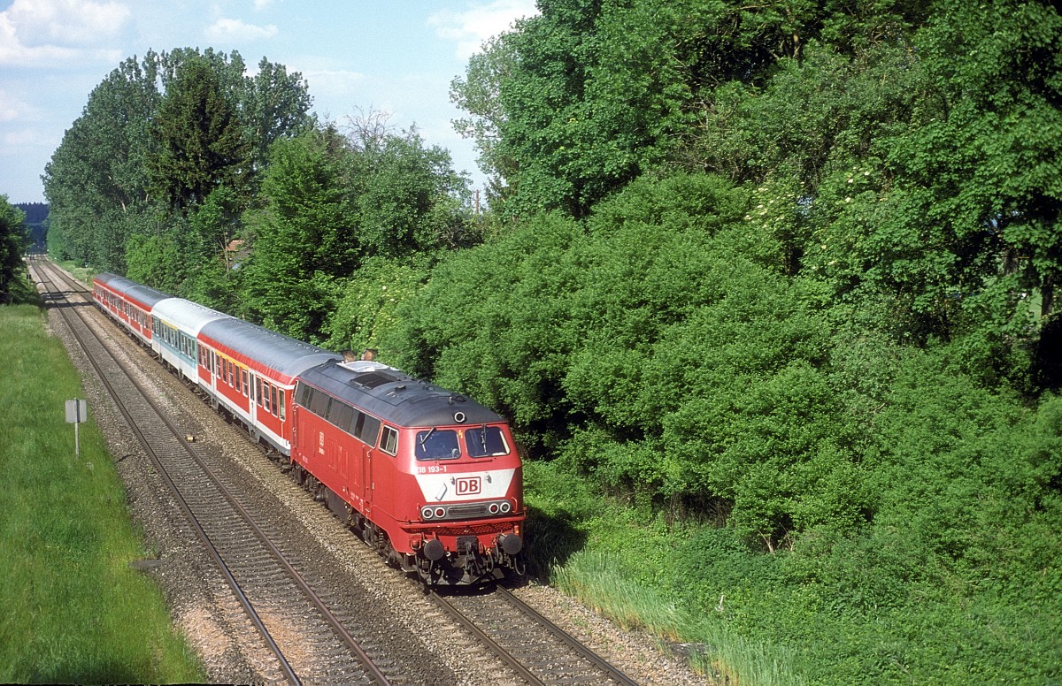
<svg viewBox="0 0 1062 686"><path fill-rule="evenodd" d="M118 275L92 298L392 565L431 586L524 574L521 460L497 412Z"/></svg>

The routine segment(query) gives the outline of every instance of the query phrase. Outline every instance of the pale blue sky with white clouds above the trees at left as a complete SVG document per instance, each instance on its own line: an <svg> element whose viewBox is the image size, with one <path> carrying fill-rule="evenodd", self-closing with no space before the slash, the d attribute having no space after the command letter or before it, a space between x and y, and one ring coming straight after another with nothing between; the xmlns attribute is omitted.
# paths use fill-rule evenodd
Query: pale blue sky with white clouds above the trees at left
<svg viewBox="0 0 1062 686"><path fill-rule="evenodd" d="M534 0L0 0L0 195L42 201L40 175L88 94L148 50L236 50L301 72L313 111L340 125L382 110L482 186L449 84Z"/></svg>

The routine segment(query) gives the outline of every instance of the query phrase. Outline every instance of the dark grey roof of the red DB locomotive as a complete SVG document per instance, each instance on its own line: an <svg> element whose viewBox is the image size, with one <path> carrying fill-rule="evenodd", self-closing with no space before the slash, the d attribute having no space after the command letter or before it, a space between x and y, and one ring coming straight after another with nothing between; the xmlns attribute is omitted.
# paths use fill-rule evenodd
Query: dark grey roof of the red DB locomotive
<svg viewBox="0 0 1062 686"><path fill-rule="evenodd" d="M399 426L485 424L502 421L492 409L375 362L330 362L299 375L318 388ZM464 421L455 415L464 415Z"/></svg>

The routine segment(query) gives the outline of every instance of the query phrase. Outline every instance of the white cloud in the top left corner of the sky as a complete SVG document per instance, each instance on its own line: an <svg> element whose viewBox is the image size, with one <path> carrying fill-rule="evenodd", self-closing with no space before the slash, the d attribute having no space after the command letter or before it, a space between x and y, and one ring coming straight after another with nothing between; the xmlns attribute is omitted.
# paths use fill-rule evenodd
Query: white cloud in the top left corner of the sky
<svg viewBox="0 0 1062 686"><path fill-rule="evenodd" d="M117 2L15 0L0 12L0 64L115 61L118 51L86 47L117 36L130 16L129 7Z"/></svg>

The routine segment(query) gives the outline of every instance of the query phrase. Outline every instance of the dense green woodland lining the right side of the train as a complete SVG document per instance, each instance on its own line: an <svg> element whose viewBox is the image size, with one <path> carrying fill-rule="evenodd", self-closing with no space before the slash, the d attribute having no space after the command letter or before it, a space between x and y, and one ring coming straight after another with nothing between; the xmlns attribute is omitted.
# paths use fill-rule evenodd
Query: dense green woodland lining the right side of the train
<svg viewBox="0 0 1062 686"><path fill-rule="evenodd" d="M485 211L414 126L177 49L89 95L49 252L497 409L780 683L1062 679L1055 4L538 6L452 84Z"/></svg>

